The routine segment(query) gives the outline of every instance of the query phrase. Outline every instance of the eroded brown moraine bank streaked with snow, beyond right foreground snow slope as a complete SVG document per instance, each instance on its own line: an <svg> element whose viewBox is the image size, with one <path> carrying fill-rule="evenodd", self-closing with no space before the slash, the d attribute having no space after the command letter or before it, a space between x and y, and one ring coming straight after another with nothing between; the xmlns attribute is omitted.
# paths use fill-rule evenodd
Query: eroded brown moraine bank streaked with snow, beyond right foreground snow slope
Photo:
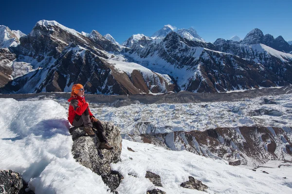
<svg viewBox="0 0 292 194"><path fill-rule="evenodd" d="M175 131L129 135L128 139L224 159L231 165L260 165L268 160L292 159L291 127L258 126Z"/></svg>

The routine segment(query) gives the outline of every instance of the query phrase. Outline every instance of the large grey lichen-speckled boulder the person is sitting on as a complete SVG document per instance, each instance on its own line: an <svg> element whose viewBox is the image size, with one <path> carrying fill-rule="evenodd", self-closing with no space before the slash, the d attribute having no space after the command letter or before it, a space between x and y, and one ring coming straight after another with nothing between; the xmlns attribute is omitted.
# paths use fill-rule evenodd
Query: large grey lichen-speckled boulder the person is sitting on
<svg viewBox="0 0 292 194"><path fill-rule="evenodd" d="M119 186L123 176L110 169L110 163L121 160L122 138L120 130L113 124L102 122L109 144L113 150L98 149L97 137L89 137L82 128L70 128L73 139L72 153L76 162L100 175L112 192Z"/></svg>

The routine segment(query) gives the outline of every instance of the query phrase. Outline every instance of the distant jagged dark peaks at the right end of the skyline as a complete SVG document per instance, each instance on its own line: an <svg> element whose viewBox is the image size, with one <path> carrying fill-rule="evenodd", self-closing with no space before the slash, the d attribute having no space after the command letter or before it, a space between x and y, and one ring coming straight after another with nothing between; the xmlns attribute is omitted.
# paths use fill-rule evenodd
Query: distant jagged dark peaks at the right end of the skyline
<svg viewBox="0 0 292 194"><path fill-rule="evenodd" d="M243 45L253 45L253 44L264 44L273 49L279 50L281 52L290 52L292 51L292 46L289 45L282 36L274 38L271 34L264 35L263 32L259 29L254 29L249 32L245 38L240 41L240 44Z"/></svg>

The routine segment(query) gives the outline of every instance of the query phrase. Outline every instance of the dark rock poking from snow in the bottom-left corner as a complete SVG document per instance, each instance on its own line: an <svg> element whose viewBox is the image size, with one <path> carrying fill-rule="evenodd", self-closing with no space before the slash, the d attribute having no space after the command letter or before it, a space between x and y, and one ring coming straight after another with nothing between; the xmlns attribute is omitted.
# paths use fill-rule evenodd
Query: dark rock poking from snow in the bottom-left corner
<svg viewBox="0 0 292 194"><path fill-rule="evenodd" d="M19 173L12 170L0 170L1 194L34 194L32 191L26 192L26 186Z"/></svg>

